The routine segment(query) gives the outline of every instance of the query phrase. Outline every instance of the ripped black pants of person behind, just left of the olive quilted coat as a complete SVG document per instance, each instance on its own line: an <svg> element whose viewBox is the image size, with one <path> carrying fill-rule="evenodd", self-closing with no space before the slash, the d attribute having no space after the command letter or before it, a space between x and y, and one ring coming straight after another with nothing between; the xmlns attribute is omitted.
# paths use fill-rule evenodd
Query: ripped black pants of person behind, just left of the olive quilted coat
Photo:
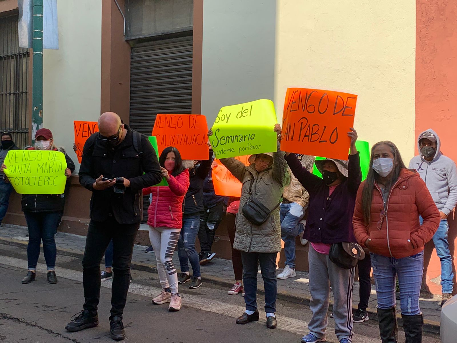
<svg viewBox="0 0 457 343"><path fill-rule="evenodd" d="M205 209L200 216L200 230L198 230L198 240L200 241L200 257L204 253L211 252L213 247L214 235L223 219L227 207L224 204L217 204L211 209Z"/></svg>

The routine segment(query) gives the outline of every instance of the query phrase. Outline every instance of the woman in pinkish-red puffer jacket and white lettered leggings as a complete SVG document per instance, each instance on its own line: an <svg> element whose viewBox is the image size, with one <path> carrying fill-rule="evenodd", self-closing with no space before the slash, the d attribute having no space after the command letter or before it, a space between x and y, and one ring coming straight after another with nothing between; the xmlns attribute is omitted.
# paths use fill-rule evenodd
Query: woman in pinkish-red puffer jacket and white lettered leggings
<svg viewBox="0 0 457 343"><path fill-rule="evenodd" d="M182 226L182 202L189 188L189 171L184 169L181 154L172 146L162 151L159 162L168 186L143 188L143 195L152 193L148 209L149 239L154 248L163 289L152 302L169 302L169 311L179 311L182 302L178 293L178 274L173 264L173 253Z"/></svg>

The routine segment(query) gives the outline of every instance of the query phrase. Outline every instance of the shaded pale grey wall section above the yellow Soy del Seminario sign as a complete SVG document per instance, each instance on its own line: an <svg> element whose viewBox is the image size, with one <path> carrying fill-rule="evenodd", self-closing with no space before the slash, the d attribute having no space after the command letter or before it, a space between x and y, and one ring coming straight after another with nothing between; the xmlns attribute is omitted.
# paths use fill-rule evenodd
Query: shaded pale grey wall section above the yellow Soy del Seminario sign
<svg viewBox="0 0 457 343"><path fill-rule="evenodd" d="M273 100L276 0L203 1L202 114Z"/></svg>

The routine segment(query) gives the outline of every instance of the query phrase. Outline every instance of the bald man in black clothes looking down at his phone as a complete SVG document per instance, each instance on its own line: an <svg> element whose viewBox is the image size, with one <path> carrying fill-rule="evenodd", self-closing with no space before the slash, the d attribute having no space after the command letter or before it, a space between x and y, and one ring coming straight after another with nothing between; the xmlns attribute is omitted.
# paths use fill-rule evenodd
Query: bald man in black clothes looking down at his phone
<svg viewBox="0 0 457 343"><path fill-rule="evenodd" d="M159 183L162 173L149 139L123 124L116 113L103 113L98 127L85 142L79 172L81 185L92 192L82 262L85 303L65 329L75 332L98 325L100 262L112 240L111 337L122 340L133 243L143 218L142 190Z"/></svg>

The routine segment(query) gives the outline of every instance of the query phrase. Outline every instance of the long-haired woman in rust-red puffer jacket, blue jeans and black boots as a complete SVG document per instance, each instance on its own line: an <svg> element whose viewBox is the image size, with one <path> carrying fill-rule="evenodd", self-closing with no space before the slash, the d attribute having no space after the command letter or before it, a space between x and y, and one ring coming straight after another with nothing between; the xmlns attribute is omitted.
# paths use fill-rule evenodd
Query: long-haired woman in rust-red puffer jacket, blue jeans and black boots
<svg viewBox="0 0 457 343"><path fill-rule="evenodd" d="M406 169L392 142L375 144L367 180L357 192L353 227L359 244L371 252L383 343L397 342L396 275L406 343L422 341L423 250L439 224L440 213L419 174Z"/></svg>

